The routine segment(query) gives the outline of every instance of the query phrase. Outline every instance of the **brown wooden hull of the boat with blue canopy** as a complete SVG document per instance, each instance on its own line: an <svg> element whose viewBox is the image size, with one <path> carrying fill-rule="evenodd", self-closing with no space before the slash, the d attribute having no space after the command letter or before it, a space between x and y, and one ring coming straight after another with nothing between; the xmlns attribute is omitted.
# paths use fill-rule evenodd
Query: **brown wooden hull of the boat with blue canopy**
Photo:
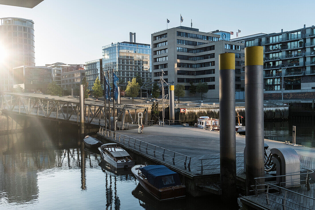
<svg viewBox="0 0 315 210"><path fill-rule="evenodd" d="M159 190L153 185L149 184L146 180L139 176L138 171L139 167L143 167L144 165L135 165L131 168L131 172L135 175L140 185L145 189L148 193L150 193L154 198L159 201L166 201L172 199L184 198L186 196L185 187L182 188L174 188L170 190Z"/></svg>

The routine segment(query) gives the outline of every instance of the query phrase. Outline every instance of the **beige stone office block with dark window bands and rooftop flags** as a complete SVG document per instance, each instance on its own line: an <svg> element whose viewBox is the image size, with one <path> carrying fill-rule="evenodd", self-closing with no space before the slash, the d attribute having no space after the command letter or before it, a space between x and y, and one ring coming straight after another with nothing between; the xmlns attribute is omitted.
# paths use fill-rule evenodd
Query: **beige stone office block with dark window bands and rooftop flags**
<svg viewBox="0 0 315 210"><path fill-rule="evenodd" d="M235 89L241 89L242 43L231 42L230 33L223 31L199 32L197 28L179 26L151 35L152 79L185 86L186 96L193 96L190 83L208 84L206 98L219 98L219 54L235 53Z"/></svg>

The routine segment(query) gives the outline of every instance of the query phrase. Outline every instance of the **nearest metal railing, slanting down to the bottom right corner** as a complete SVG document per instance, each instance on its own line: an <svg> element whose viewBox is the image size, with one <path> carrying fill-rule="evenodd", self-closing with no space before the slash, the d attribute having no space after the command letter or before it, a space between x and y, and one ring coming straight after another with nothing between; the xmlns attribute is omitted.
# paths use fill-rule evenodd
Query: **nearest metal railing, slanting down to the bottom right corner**
<svg viewBox="0 0 315 210"><path fill-rule="evenodd" d="M286 208L289 208L289 209L297 209L297 206L302 207L302 208L306 208L306 209L311 209L311 210L313 209L313 208L309 208L309 207L307 207L307 206L304 206L304 204L307 205L307 203L309 203L309 202L307 202L307 201L305 202L305 200L311 199L311 200L313 200L313 202L314 202L314 201L315 201L315 198L312 198L312 197L309 197L309 196L306 196L306 195L303 195L303 194L294 192L294 191L292 191L292 190L288 190L288 189L283 188L283 187L279 187L279 186L277 186L277 185L275 185L275 184L266 184L266 186L267 186L267 191L266 191L266 202L267 202L267 205L269 205L269 204L270 204L270 201L272 201L272 202L275 202L275 203L280 204L283 209L286 209ZM272 188L270 188L269 186L271 186ZM280 194L282 194L282 190L284 190L284 192L285 192L285 193L284 193L284 196L281 197L281 196L277 196L277 195L275 195L275 194L269 193L269 190L271 190L271 189L278 189L279 192L280 192ZM296 203L296 202L293 202L291 199L290 199L290 200L287 199L287 194L288 194L288 192L294 194L294 195L297 196L297 197L298 197L298 196L304 197L304 199L303 199L303 205L298 204L298 203ZM274 197L276 197L276 200L270 199L269 196L274 196ZM292 196L291 196L291 197L292 197ZM282 201L281 203L280 203L280 202L277 202L278 198L281 199L281 201ZM289 202L289 205L292 204L291 207L288 206L288 205L286 204L286 202ZM299 209L300 209L300 208L299 208Z"/></svg>

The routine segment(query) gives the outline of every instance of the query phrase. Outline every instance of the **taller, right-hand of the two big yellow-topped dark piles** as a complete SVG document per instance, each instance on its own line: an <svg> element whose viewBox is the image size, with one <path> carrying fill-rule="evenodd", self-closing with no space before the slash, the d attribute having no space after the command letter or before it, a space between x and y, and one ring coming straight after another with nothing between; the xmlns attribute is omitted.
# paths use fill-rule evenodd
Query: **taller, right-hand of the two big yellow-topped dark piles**
<svg viewBox="0 0 315 210"><path fill-rule="evenodd" d="M264 176L263 47L245 48L246 192ZM264 184L265 180L257 180ZM260 191L262 192L262 191Z"/></svg>

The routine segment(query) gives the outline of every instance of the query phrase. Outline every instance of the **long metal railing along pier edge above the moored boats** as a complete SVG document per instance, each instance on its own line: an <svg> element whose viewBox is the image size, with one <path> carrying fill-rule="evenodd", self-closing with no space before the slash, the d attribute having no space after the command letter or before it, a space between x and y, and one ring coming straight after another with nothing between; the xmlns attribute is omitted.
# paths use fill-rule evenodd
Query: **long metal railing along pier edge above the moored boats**
<svg viewBox="0 0 315 210"><path fill-rule="evenodd" d="M147 143L133 137L123 135L121 133L110 131L106 129L105 126L100 126L100 134L124 145L128 145L129 147L134 147L134 149L138 151L145 151L146 154L150 153L154 157L160 157L164 161L169 160L173 163L173 165L178 164L184 166L185 170L188 169L188 171L191 171L190 170L191 157L187 155L183 155L178 152L165 149L163 147L159 147L157 145Z"/></svg>

